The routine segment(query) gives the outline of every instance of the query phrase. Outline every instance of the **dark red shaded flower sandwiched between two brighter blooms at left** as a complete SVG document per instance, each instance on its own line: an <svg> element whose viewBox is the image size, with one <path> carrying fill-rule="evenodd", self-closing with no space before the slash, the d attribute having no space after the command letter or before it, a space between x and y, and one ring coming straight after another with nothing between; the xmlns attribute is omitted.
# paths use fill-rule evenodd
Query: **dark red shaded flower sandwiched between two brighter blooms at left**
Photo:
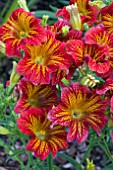
<svg viewBox="0 0 113 170"><path fill-rule="evenodd" d="M52 108L56 106L58 97L56 87L49 85L33 85L27 79L23 78L18 83L20 98L14 108L16 113L23 112L29 108Z"/></svg>

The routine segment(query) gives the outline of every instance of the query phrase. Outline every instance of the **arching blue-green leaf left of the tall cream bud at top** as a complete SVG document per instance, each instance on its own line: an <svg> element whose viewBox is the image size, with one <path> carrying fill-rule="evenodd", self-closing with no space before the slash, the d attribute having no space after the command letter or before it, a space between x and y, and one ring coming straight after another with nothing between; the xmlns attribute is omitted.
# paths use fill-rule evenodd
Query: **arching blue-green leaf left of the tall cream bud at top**
<svg viewBox="0 0 113 170"><path fill-rule="evenodd" d="M55 12L47 11L47 10L39 10L34 12L34 16L42 18L43 15L48 15L52 19L56 19Z"/></svg>

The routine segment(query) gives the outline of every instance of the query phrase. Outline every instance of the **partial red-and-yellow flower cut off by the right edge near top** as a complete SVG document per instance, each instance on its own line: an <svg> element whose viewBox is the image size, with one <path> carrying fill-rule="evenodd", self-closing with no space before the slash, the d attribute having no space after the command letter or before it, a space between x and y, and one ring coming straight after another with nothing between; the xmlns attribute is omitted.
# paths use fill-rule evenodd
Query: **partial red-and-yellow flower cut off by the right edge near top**
<svg viewBox="0 0 113 170"><path fill-rule="evenodd" d="M101 23L109 34L113 34L113 2L108 7L104 7L100 11Z"/></svg>

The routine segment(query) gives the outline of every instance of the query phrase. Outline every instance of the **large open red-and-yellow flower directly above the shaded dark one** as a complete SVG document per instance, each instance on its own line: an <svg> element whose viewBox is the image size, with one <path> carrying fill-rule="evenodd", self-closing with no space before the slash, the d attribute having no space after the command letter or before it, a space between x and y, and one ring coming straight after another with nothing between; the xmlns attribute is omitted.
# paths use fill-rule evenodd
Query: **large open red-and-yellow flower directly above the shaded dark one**
<svg viewBox="0 0 113 170"><path fill-rule="evenodd" d="M38 46L26 45L25 56L19 61L17 72L33 84L49 84L51 73L58 68L67 69L71 56L65 51L65 43L47 32L47 40Z"/></svg>

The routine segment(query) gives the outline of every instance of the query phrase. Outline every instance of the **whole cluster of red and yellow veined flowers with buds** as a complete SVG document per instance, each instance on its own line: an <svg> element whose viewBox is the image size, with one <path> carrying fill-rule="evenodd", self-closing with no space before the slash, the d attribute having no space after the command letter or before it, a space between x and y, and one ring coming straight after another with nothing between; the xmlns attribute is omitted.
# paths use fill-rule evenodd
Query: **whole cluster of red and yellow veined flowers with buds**
<svg viewBox="0 0 113 170"><path fill-rule="evenodd" d="M43 26L18 8L0 27L0 41L7 56L18 57L22 77L17 125L30 136L26 149L41 160L68 142L84 142L90 127L101 135L113 121L113 3L70 0L56 16Z"/></svg>

